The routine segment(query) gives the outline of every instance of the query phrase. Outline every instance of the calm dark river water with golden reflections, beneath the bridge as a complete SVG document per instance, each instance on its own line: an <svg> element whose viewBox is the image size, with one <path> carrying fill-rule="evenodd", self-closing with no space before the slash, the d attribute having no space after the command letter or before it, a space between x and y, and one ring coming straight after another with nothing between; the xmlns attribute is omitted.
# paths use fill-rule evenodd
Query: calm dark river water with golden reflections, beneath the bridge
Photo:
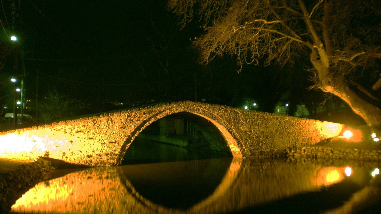
<svg viewBox="0 0 381 214"><path fill-rule="evenodd" d="M11 212L381 213L374 163L208 158L157 144L141 144L151 150L142 153L135 145L128 165L53 172Z"/></svg>

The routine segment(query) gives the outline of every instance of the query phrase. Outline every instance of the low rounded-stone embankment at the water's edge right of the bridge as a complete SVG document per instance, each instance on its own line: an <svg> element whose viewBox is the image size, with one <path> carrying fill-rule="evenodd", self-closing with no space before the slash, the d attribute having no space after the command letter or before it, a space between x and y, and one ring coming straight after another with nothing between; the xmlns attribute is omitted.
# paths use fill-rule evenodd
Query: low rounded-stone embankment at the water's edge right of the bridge
<svg viewBox="0 0 381 214"><path fill-rule="evenodd" d="M343 147L303 147L288 152L290 158L347 159L381 161L381 150Z"/></svg>

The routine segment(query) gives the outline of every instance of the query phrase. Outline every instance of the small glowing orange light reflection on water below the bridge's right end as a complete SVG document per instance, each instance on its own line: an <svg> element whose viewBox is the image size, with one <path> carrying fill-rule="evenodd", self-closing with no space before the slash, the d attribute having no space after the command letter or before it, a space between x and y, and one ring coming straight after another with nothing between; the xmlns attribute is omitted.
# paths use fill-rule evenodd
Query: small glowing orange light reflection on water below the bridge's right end
<svg viewBox="0 0 381 214"><path fill-rule="evenodd" d="M327 167L319 171L317 178L315 179L316 185L330 185L339 182L344 178L343 168L339 167Z"/></svg>

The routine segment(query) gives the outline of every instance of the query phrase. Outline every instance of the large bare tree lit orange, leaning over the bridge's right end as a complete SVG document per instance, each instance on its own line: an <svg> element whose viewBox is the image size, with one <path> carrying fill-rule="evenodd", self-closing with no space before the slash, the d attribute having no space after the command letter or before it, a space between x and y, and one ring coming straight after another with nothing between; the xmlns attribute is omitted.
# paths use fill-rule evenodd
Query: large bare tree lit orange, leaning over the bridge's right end
<svg viewBox="0 0 381 214"><path fill-rule="evenodd" d="M371 84L357 81L379 68L380 1L170 0L168 7L181 17L181 27L194 14L202 22L205 33L193 42L200 62L231 54L242 68L260 59L292 65L304 58L315 83L311 88L340 97L368 125L381 125ZM376 83L373 90L378 88Z"/></svg>

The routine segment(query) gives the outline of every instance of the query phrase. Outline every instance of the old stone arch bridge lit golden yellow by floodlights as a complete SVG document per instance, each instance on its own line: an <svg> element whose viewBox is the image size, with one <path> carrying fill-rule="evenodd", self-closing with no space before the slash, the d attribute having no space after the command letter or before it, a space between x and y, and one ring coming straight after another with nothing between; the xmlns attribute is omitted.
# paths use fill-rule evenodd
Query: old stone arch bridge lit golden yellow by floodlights
<svg viewBox="0 0 381 214"><path fill-rule="evenodd" d="M190 101L104 113L0 133L0 157L50 157L86 166L115 166L136 136L176 113L205 118L234 157L255 158L338 136L342 125Z"/></svg>

